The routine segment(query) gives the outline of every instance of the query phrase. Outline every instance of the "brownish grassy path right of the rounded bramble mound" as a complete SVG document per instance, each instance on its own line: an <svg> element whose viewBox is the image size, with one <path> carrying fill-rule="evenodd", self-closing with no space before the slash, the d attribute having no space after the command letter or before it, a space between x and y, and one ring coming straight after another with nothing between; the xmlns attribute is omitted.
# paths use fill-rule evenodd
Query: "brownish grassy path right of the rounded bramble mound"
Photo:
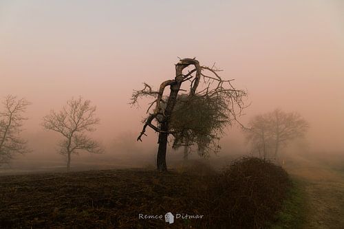
<svg viewBox="0 0 344 229"><path fill-rule="evenodd" d="M344 228L344 174L319 163L301 163L287 170L301 179L308 201L304 228Z"/></svg>

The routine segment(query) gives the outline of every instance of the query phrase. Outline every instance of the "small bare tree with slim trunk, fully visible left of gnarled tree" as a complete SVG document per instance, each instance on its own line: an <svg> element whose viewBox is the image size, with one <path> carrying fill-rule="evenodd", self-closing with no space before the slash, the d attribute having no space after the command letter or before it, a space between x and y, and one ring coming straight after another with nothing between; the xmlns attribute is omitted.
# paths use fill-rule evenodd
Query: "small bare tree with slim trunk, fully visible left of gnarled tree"
<svg viewBox="0 0 344 229"><path fill-rule="evenodd" d="M96 131L96 107L91 106L90 100L72 98L59 112L52 110L43 118L43 127L47 130L56 131L63 136L59 142L60 153L67 156L67 171L70 169L71 155L79 151L89 153L103 153L103 148L85 133Z"/></svg>

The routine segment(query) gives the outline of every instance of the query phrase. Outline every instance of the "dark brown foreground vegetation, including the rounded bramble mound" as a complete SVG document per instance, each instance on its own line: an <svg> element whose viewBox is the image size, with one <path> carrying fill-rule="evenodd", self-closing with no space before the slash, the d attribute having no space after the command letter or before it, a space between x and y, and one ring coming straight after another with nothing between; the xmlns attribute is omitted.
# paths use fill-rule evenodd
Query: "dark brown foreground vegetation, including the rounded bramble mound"
<svg viewBox="0 0 344 229"><path fill-rule="evenodd" d="M197 164L182 173L50 173L0 183L1 228L261 228L274 219L289 184L279 166L252 157L222 175ZM166 212L204 217L171 225L139 219Z"/></svg>

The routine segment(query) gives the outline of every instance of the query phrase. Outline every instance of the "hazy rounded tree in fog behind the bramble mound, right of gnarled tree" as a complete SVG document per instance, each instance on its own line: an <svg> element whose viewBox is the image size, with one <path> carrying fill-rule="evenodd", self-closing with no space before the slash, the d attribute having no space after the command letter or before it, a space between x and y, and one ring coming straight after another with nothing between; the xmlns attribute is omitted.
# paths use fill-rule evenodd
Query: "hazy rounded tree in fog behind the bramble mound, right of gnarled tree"
<svg viewBox="0 0 344 229"><path fill-rule="evenodd" d="M268 152L276 158L281 148L305 135L309 124L299 113L275 109L255 116L248 126L250 128L244 129L244 133L252 149L264 158L268 156Z"/></svg>

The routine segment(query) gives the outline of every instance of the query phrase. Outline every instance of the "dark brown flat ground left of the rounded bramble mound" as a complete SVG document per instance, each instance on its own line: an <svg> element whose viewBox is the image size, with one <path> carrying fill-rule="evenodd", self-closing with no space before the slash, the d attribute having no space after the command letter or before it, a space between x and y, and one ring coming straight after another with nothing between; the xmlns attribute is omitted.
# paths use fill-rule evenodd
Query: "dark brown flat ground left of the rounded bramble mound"
<svg viewBox="0 0 344 229"><path fill-rule="evenodd" d="M154 228L164 221L139 221L138 215L204 215L187 204L193 203L190 175L109 170L12 175L0 182L1 228L126 228L133 221Z"/></svg>

